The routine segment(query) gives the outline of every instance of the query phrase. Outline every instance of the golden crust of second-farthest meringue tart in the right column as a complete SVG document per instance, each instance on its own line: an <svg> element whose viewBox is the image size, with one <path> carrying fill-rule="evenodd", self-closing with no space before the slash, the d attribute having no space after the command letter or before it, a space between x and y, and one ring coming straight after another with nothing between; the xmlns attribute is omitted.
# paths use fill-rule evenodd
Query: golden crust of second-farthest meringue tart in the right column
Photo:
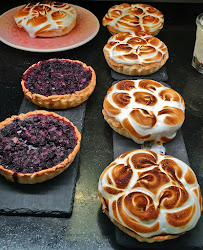
<svg viewBox="0 0 203 250"><path fill-rule="evenodd" d="M107 57L105 54L104 57L109 67L118 73L129 76L145 76L153 74L156 71L158 71L168 60L169 54L167 51L167 53L163 55L163 58L160 62L149 63L147 65L141 65L141 64L126 65L115 62L113 59Z"/></svg>

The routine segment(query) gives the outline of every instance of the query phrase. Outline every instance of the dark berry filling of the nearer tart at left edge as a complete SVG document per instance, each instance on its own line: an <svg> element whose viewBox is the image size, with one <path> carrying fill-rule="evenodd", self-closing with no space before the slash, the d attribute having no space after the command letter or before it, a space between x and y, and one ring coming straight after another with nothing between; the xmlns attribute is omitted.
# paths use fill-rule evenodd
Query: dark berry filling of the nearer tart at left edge
<svg viewBox="0 0 203 250"><path fill-rule="evenodd" d="M74 127L53 116L33 115L0 130L0 165L33 173L64 161L77 143Z"/></svg>

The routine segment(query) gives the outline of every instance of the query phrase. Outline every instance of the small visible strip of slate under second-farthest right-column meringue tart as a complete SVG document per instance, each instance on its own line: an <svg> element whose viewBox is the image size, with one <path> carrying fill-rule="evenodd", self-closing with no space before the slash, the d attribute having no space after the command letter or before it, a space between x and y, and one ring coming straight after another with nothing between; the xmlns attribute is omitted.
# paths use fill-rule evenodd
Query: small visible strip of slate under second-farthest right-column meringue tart
<svg viewBox="0 0 203 250"><path fill-rule="evenodd" d="M157 72L147 75L147 76L127 76L124 74L120 74L114 70L111 70L111 77L115 80L136 80L136 79L152 79L155 81L167 81L168 74L166 71L166 65L160 68Z"/></svg>

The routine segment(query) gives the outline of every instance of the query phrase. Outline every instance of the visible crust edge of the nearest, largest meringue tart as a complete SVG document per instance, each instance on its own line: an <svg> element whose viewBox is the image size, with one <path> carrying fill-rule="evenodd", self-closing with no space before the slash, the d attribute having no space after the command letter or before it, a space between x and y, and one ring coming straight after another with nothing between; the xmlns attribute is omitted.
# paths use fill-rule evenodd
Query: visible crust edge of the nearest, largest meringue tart
<svg viewBox="0 0 203 250"><path fill-rule="evenodd" d="M168 235L157 235L157 236L152 236L149 238L144 238L142 236L140 236L139 234L136 234L135 232L133 232L132 230L124 227L123 225L121 225L120 223L118 223L116 220L112 219L109 216L109 211L106 205L106 202L103 198L103 196L101 195L101 193L98 191L98 195L102 204L102 210L104 211L104 213L110 218L110 220L112 221L112 223L114 223L115 226L117 226L120 230L122 230L124 233L130 235L133 238L136 238L138 241L140 242L147 242L147 243L153 243L153 242L161 242L161 241L165 241L165 240L172 240L172 239L176 239L178 238L180 235L184 234L180 233L180 234L168 234Z"/></svg>

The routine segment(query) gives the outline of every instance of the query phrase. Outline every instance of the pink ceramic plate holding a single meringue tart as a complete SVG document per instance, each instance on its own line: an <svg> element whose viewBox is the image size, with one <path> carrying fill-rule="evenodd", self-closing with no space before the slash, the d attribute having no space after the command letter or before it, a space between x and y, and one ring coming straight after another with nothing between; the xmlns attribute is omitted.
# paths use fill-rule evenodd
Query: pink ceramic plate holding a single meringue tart
<svg viewBox="0 0 203 250"><path fill-rule="evenodd" d="M17 49L33 52L56 52L79 47L93 39L99 31L99 21L90 11L72 5L77 12L77 23L67 35L52 38L30 38L18 28L14 15L23 6L13 8L0 16L0 40Z"/></svg>

